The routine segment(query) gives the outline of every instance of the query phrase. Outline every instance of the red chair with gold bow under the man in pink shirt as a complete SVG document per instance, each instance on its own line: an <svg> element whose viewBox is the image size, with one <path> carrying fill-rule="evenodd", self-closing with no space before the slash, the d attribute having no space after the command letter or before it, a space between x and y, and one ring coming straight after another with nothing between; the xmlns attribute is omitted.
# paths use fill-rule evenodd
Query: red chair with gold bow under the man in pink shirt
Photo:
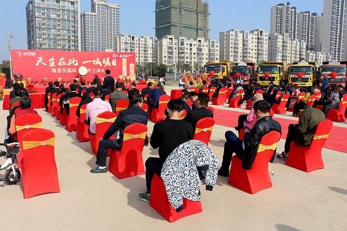
<svg viewBox="0 0 347 231"><path fill-rule="evenodd" d="M117 116L113 112L102 112L96 117L96 132L95 135L89 134L90 145L92 146L93 153L96 156L99 149L99 141L104 136L105 132L115 122ZM110 139L115 139L115 136L112 135ZM110 154L110 150L107 155Z"/></svg>

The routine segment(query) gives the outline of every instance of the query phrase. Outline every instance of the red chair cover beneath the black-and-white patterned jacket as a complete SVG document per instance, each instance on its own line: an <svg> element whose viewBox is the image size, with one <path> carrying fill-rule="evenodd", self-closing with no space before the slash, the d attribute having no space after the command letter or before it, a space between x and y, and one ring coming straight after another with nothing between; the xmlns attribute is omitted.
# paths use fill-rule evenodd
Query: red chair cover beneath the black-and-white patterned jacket
<svg viewBox="0 0 347 231"><path fill-rule="evenodd" d="M150 206L168 222L174 222L182 217L202 212L200 201L190 201L186 198L183 198L183 210L176 212L169 203L164 182L158 174L154 174L152 179Z"/></svg>

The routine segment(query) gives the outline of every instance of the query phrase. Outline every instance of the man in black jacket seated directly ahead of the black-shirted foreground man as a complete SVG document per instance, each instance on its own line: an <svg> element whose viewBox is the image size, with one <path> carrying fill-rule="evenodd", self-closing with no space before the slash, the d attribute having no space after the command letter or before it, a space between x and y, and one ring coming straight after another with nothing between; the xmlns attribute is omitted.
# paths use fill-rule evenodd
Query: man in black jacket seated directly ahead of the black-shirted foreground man
<svg viewBox="0 0 347 231"><path fill-rule="evenodd" d="M213 112L210 109L206 109L206 105L209 103L210 97L204 92L199 93L196 106L197 110L187 113L186 117L183 118L184 121L187 121L192 124L193 131L195 131L196 123L205 117L213 118Z"/></svg>

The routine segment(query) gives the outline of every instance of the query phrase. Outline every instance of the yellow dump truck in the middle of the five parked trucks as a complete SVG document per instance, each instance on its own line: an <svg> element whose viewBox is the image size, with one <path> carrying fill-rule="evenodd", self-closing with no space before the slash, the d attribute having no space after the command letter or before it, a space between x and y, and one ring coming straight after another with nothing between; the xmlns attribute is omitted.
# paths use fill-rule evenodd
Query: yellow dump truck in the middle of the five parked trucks
<svg viewBox="0 0 347 231"><path fill-rule="evenodd" d="M283 62L263 62L257 67L257 82L262 87L267 87L270 82L282 87L287 82L285 68L286 63Z"/></svg>

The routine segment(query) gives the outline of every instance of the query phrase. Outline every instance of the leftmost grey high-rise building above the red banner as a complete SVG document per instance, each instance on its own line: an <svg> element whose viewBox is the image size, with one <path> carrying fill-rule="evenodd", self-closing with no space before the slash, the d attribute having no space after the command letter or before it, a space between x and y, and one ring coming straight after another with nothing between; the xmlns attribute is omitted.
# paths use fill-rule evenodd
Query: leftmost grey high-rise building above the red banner
<svg viewBox="0 0 347 231"><path fill-rule="evenodd" d="M29 0L28 49L80 51L79 3L79 0Z"/></svg>

